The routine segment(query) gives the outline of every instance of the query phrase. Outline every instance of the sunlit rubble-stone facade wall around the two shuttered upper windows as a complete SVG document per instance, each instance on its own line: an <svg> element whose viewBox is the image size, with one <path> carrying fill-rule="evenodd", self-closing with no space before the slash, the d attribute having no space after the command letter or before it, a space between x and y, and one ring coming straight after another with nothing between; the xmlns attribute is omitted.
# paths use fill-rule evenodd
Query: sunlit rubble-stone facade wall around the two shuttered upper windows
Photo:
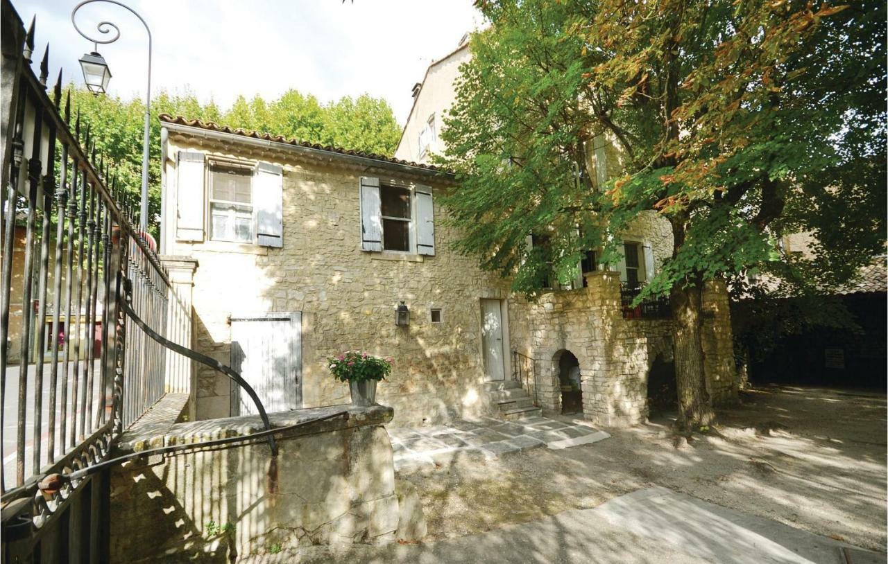
<svg viewBox="0 0 888 564"><path fill-rule="evenodd" d="M434 256L366 253L360 247L360 176L379 176L385 182L385 170L335 168L294 161L287 153L197 145L171 134L170 157L182 149L271 161L284 168L283 247L269 248L177 241L172 218L176 174L168 162L165 198L170 213L163 253L199 262L194 272L194 342L200 352L231 362L228 317L233 312L300 311L305 407L349 401L347 386L329 374L326 358L362 349L394 358L391 378L379 385L377 401L395 409L396 424L436 423L488 411L481 389L480 299L510 300L509 281L451 250L456 236L445 225L437 201ZM429 184L422 178L392 180ZM436 197L444 189L432 184ZM394 325L400 301L410 309L408 327ZM432 324L432 307L442 310L442 323ZM519 311L511 302L507 310L510 315ZM521 331L519 319L508 325ZM504 350L509 350L508 343ZM505 360L508 376L508 354ZM195 380L197 419L228 416L229 380L202 366L196 368Z"/></svg>

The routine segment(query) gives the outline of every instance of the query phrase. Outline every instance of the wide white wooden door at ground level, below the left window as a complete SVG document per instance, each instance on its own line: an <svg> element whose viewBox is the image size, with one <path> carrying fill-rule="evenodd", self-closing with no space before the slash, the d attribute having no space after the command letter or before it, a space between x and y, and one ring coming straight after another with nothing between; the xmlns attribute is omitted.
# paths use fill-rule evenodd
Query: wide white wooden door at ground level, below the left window
<svg viewBox="0 0 888 564"><path fill-rule="evenodd" d="M267 412L302 407L302 314L232 316L231 366L256 390ZM256 413L250 396L232 382L231 414Z"/></svg>

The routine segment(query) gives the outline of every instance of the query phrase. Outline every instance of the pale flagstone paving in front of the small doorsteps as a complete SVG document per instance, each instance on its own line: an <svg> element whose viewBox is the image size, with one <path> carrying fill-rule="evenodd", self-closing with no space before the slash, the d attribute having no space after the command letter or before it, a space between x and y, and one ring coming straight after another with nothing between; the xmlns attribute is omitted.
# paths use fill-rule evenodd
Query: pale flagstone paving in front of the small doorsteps
<svg viewBox="0 0 888 564"><path fill-rule="evenodd" d="M548 447L567 449L597 443L610 435L582 420L528 417L514 421L461 419L434 427L388 430L396 472L412 472L448 464L456 458L497 458L510 452Z"/></svg>

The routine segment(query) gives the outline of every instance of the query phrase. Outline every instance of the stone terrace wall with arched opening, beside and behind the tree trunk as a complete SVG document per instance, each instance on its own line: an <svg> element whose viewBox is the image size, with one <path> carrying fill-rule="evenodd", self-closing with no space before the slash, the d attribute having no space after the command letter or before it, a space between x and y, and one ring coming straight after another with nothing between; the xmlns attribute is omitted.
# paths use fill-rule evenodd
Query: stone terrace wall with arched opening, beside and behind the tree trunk
<svg viewBox="0 0 888 564"><path fill-rule="evenodd" d="M647 417L647 374L654 359L672 360L671 322L624 319L617 272L592 272L587 279L588 287L544 294L528 305L536 396L543 411L561 411L559 357L570 351L580 364L586 419L607 427L636 425ZM715 403L731 402L739 379L724 283L708 284L703 302L707 385Z"/></svg>

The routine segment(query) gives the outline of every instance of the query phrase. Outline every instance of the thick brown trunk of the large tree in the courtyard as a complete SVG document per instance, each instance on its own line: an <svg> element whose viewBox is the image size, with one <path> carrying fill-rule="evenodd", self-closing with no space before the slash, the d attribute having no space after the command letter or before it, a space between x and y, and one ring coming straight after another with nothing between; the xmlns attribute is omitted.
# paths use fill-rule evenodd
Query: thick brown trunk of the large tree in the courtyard
<svg viewBox="0 0 888 564"><path fill-rule="evenodd" d="M715 421L700 342L702 285L673 286L672 304L675 377L678 388L678 424L685 429L699 429Z"/></svg>

